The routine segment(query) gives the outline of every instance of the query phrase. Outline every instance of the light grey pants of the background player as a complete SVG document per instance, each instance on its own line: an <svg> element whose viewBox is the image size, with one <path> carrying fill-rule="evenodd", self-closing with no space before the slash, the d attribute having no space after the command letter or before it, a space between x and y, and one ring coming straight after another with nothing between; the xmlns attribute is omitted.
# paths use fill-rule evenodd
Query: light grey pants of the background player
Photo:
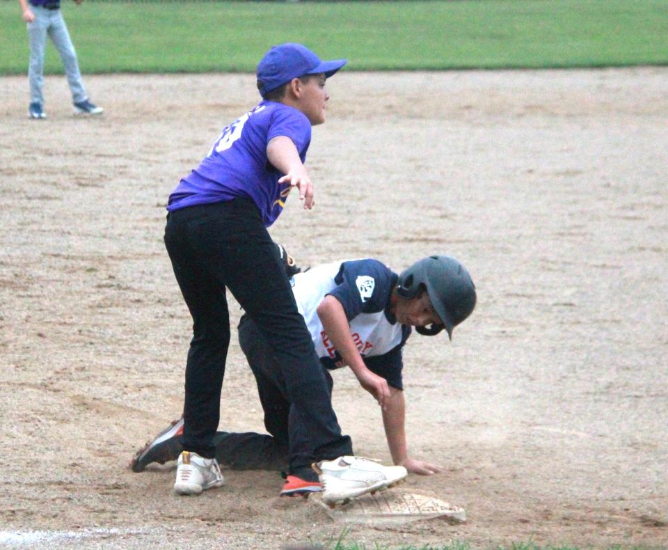
<svg viewBox="0 0 668 550"><path fill-rule="evenodd" d="M44 104L42 86L44 85L44 52L47 45L47 33L54 42L54 46L61 54L63 68L67 76L67 84L72 91L72 102L79 103L88 99L84 82L81 81L77 53L67 32L65 19L61 10L47 10L39 6L30 6L35 14L35 20L28 23L28 38L30 40L30 65L28 81L30 84L30 102Z"/></svg>

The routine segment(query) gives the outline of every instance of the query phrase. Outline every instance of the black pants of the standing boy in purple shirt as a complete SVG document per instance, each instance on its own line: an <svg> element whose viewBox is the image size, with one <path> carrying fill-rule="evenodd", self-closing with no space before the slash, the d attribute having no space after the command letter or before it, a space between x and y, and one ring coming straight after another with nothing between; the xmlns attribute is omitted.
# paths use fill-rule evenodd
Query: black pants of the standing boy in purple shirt
<svg viewBox="0 0 668 550"><path fill-rule="evenodd" d="M276 245L252 201L191 206L170 212L165 245L193 317L186 363L181 443L202 457L216 455L221 387L230 343L228 288L266 340L286 400L309 436L308 457L290 457L291 469L352 453L332 409L330 388L310 333L297 310ZM292 415L292 411L290 413ZM292 446L292 445L291 445Z"/></svg>

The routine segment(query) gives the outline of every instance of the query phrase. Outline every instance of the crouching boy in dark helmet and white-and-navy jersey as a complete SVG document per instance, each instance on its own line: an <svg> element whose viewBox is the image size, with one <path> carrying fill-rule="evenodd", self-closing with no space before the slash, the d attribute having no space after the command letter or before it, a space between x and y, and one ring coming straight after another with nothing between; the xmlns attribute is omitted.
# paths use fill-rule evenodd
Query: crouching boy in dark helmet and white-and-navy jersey
<svg viewBox="0 0 668 550"><path fill-rule="evenodd" d="M292 276L297 307L310 331L330 393L330 371L344 366L354 369L356 363L363 363L383 377L390 386L383 425L392 461L413 473L440 471L438 466L408 454L402 351L411 327L427 335L445 328L452 336L453 327L470 315L476 293L466 269L454 258L429 256L400 275L371 259L334 262L300 273L284 249L279 246L279 250L288 260L285 269ZM214 438L216 457L237 469L291 468L292 462L314 459L310 434L276 379L271 349L248 315L239 322L239 343L255 375L269 435L218 432ZM182 425L182 419L176 421L138 451L132 469L142 471L151 462L176 459ZM317 482L287 475L281 494L319 490Z"/></svg>

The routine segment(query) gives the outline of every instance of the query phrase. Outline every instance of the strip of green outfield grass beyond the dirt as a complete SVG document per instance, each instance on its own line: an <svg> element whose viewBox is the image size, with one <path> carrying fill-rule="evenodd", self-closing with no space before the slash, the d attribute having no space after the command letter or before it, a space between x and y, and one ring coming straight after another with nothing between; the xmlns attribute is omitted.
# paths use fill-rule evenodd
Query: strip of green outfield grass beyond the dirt
<svg viewBox="0 0 668 550"><path fill-rule="evenodd" d="M304 42L351 70L668 64L668 0L105 2L63 0L83 72L252 72ZM27 70L16 0L0 0L0 74ZM61 72L52 45L46 72Z"/></svg>

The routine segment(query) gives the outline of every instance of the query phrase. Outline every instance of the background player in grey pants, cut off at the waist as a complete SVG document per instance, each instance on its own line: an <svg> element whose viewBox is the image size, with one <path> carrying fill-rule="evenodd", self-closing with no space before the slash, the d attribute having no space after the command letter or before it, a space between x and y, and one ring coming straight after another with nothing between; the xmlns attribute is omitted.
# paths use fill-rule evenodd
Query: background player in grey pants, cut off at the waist
<svg viewBox="0 0 668 550"><path fill-rule="evenodd" d="M82 0L74 0L80 4ZM19 0L23 11L23 20L28 24L28 38L30 40L30 64L28 67L28 81L30 84L30 118L47 118L44 111L44 54L47 45L47 34L54 42L54 46L61 54L63 68L67 76L67 84L72 91L74 114L99 115L102 107L97 107L88 100L84 82L81 81L77 53L67 32L65 19L61 14L61 0Z"/></svg>

